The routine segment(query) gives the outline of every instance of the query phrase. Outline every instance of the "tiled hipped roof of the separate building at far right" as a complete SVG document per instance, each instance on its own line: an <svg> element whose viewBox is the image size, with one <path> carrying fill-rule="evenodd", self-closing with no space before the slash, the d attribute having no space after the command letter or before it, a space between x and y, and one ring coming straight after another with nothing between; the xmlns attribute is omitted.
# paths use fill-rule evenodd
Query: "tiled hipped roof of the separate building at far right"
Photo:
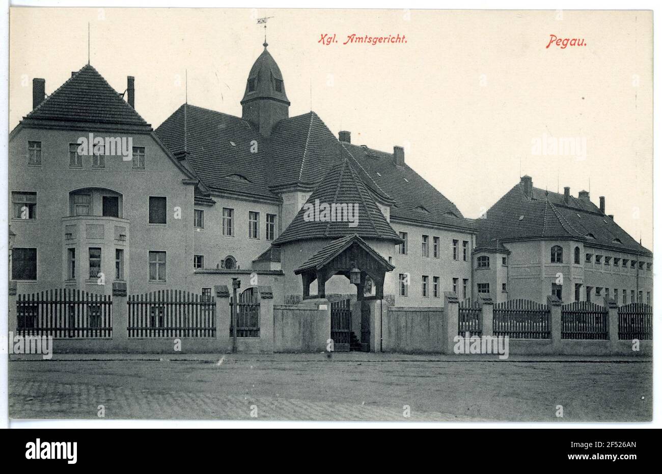
<svg viewBox="0 0 662 474"><path fill-rule="evenodd" d="M504 242L512 241L572 239L615 252L652 255L592 202L571 196L565 204L563 194L540 188L532 188L532 198L527 198L519 183L477 223L478 250L504 248Z"/></svg>

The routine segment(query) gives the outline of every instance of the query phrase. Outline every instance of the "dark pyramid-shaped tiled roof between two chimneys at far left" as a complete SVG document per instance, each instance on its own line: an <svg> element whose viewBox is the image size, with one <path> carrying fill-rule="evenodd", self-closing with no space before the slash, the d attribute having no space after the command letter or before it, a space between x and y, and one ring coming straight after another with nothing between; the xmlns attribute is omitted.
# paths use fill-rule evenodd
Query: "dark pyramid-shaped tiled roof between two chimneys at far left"
<svg viewBox="0 0 662 474"><path fill-rule="evenodd" d="M48 124L52 121L138 126L151 130L138 112L89 64L71 75L21 123Z"/></svg>

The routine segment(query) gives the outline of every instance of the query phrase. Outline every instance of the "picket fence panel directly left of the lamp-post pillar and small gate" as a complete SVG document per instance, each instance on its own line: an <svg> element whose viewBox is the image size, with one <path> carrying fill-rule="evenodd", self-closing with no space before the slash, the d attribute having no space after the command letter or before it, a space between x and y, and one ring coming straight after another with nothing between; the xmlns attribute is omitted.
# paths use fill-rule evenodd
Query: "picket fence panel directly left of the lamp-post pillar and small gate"
<svg viewBox="0 0 662 474"><path fill-rule="evenodd" d="M130 295L129 337L215 337L216 302L182 290Z"/></svg>

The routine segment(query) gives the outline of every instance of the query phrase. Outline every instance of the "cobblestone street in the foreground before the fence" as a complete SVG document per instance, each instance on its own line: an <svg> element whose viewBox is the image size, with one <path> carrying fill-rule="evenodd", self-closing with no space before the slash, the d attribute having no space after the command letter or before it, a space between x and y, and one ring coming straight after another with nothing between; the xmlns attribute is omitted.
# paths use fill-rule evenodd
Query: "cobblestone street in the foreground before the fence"
<svg viewBox="0 0 662 474"><path fill-rule="evenodd" d="M99 405L109 419L647 421L652 365L355 352L9 363L12 418L97 418Z"/></svg>

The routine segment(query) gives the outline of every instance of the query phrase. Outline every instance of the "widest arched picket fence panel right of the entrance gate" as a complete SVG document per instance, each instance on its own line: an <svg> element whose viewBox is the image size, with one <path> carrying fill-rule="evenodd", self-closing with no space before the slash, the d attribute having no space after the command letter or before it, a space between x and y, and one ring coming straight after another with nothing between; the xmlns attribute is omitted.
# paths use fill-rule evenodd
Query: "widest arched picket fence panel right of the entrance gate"
<svg viewBox="0 0 662 474"><path fill-rule="evenodd" d="M530 299L510 299L493 309L493 334L516 339L549 339L549 307Z"/></svg>

